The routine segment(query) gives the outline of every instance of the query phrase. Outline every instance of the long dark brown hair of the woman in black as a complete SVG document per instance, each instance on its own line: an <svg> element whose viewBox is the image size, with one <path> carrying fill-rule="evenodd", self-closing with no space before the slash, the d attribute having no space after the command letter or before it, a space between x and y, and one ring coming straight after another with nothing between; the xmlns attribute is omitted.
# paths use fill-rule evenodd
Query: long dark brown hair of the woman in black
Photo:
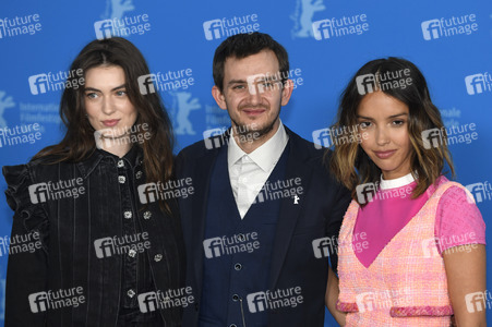
<svg viewBox="0 0 492 327"><path fill-rule="evenodd" d="M146 181L165 183L172 173L172 125L159 95L140 93L137 78L149 74L149 70L139 49L121 37L93 40L82 49L70 71L82 70L85 77L92 68L110 65L120 66L124 71L127 94L137 110L135 124L145 123L148 126L144 131L149 133L146 134L146 141L139 145L143 148ZM51 164L81 161L94 153L96 142L94 129L85 116L84 89L84 85L79 88L65 87L61 97L60 117L67 133L59 144L41 149L33 159L52 156ZM143 133L140 129L139 131Z"/></svg>

